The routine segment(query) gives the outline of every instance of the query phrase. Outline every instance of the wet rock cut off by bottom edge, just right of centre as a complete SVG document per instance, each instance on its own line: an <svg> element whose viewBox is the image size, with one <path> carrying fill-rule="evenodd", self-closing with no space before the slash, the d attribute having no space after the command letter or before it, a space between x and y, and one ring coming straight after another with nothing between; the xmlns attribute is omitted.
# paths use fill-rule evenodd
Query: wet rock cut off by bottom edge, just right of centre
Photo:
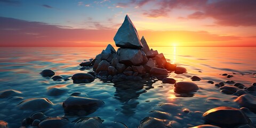
<svg viewBox="0 0 256 128"><path fill-rule="evenodd" d="M153 117L145 117L140 122L140 126L138 128L169 128L172 127L171 123L166 122L163 119L153 118Z"/></svg>

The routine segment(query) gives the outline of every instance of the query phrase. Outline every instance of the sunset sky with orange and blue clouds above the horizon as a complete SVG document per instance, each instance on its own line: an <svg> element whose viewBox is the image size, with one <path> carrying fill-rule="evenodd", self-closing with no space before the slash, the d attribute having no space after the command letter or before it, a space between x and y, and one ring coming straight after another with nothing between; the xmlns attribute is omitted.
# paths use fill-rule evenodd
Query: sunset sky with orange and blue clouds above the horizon
<svg viewBox="0 0 256 128"><path fill-rule="evenodd" d="M254 0L0 0L0 46L107 46L128 14L150 46L256 46Z"/></svg>

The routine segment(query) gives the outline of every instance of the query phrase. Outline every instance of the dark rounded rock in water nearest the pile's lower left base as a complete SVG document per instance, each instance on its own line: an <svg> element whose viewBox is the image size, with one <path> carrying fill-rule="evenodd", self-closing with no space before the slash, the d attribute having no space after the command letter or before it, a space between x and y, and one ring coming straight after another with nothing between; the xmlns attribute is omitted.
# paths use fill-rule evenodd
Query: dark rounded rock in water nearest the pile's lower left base
<svg viewBox="0 0 256 128"><path fill-rule="evenodd" d="M77 73L74 74L72 77L73 83L75 84L81 84L81 83L91 83L94 81L94 76L87 73Z"/></svg>

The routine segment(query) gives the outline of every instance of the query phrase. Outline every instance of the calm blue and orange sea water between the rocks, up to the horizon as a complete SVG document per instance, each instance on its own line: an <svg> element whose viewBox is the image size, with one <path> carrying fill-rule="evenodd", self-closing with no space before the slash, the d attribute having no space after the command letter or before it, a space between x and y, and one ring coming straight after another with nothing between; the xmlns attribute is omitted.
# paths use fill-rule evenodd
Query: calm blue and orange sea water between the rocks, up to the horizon
<svg viewBox="0 0 256 128"><path fill-rule="evenodd" d="M122 122L129 128L137 127L140 121L150 115L149 111L159 110L160 103L175 103L180 108L169 111L170 121L176 121L182 127L204 124L201 116L205 111L219 106L239 108L233 101L236 96L220 92L215 83L235 81L245 86L256 82L256 47L151 47L164 53L172 63L186 67L187 74L170 73L171 78L179 81L191 81L190 76L198 76L202 81L194 82L200 89L194 97L179 97L173 91L173 84L158 81L143 89L129 92L120 91L113 83L104 83L100 79L79 85L73 81L52 81L39 75L44 69L51 69L55 75L63 77L75 73L86 73L79 63L94 58L105 47L0 47L0 92L17 90L19 97L0 99L0 120L9 123L9 127L21 126L23 118L36 111L20 110L17 105L29 98L47 98L54 106L44 111L46 116L62 117L62 102L71 93L81 92L84 97L103 100L105 105L87 117L98 116L104 123ZM221 74L233 74L227 78ZM209 84L207 81L213 81ZM131 82L130 84L136 84ZM163 86L163 87L159 87ZM58 87L66 90L61 97L47 95L47 90ZM128 96L127 96L128 95ZM129 96L130 95L130 96ZM132 96L131 96L132 95ZM189 114L181 113L190 110ZM69 117L70 121L77 117Z"/></svg>

